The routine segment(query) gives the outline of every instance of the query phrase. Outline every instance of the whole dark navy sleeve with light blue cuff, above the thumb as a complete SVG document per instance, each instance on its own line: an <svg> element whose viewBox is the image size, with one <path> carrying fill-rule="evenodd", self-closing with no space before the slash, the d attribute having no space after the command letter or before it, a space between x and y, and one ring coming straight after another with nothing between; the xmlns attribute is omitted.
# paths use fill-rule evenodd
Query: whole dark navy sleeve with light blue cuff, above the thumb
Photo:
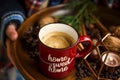
<svg viewBox="0 0 120 80"><path fill-rule="evenodd" d="M6 24L16 21L21 24L25 19L25 7L22 0L0 0L0 41L5 45Z"/></svg>

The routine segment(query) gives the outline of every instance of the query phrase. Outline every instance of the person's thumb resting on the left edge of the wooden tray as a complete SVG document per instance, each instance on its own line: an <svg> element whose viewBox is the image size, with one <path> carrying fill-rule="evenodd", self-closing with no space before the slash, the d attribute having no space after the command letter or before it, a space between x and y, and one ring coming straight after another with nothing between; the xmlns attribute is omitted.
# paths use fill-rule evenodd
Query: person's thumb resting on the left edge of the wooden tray
<svg viewBox="0 0 120 80"><path fill-rule="evenodd" d="M15 41L17 39L18 33L16 31L16 26L14 24L8 25L6 29L6 35L12 41Z"/></svg>

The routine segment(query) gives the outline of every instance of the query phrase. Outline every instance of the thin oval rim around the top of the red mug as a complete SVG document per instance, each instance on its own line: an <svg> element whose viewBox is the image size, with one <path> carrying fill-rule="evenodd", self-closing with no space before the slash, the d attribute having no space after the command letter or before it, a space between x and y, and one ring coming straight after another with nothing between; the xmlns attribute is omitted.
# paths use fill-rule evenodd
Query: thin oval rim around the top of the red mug
<svg viewBox="0 0 120 80"><path fill-rule="evenodd" d="M49 46L45 45L45 44L40 40L39 34L40 34L40 30L41 30L41 29L43 29L45 26L50 25L50 24L64 24L64 25L69 26L71 29L73 29L73 30L76 32L77 37L78 37L77 40L73 43L73 45L71 45L71 46L69 46L69 47L66 47L66 48L52 48L52 47L49 47ZM70 25L68 25L68 24L65 24L65 23L60 23L60 22L48 23L48 24L45 24L44 26L42 26L42 28L40 28L40 30L39 30L39 33L38 33L39 41L40 41L44 46L46 46L46 47L48 47L48 48L51 48L51 49L54 49L54 50L66 50L66 49L71 49L71 48L73 48L74 46L76 46L76 44L78 44L78 42L79 42L79 34L78 34L78 32L77 32L72 26L70 26Z"/></svg>

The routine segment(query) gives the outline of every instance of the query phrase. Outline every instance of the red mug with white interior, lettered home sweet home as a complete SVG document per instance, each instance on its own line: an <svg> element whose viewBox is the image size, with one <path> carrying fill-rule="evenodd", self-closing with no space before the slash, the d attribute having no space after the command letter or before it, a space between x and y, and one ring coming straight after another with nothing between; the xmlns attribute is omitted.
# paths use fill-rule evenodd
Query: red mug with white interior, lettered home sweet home
<svg viewBox="0 0 120 80"><path fill-rule="evenodd" d="M48 46L44 41L56 44L54 39L51 41L47 40L52 32L67 33L74 39L74 43L66 48ZM45 38L46 36L47 38ZM45 39L43 40L43 38ZM75 60L80 57L85 57L92 49L92 40L89 36L79 36L74 28L63 23L45 25L39 31L39 39L40 69L41 72L49 78L64 78L68 76L74 69ZM59 39L57 41L59 41ZM88 42L89 45L84 50L78 51L77 46L81 42Z"/></svg>

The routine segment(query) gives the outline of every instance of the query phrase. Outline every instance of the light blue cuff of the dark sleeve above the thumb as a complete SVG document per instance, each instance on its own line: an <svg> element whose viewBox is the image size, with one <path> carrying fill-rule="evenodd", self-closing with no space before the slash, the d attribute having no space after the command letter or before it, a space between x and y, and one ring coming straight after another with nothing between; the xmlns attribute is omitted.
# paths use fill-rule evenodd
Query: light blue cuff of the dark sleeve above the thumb
<svg viewBox="0 0 120 80"><path fill-rule="evenodd" d="M5 45L5 29L7 27L6 24L9 23L11 20L16 20L19 24L21 24L24 19L24 14L19 11L8 12L2 16L0 25L0 40L3 45Z"/></svg>

